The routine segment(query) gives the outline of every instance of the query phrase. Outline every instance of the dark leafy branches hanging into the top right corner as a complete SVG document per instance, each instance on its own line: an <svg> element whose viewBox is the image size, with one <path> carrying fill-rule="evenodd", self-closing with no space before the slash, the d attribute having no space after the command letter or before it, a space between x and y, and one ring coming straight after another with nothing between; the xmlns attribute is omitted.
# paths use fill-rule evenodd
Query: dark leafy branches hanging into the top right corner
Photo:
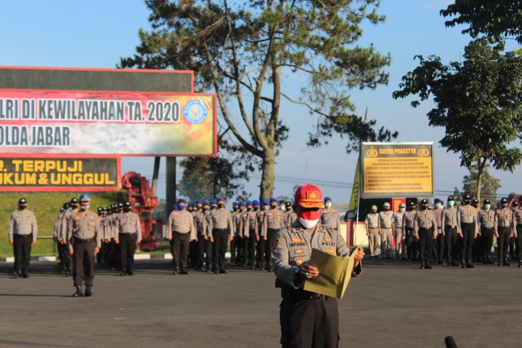
<svg viewBox="0 0 522 348"><path fill-rule="evenodd" d="M522 43L522 2L520 0L455 0L455 4L441 10L446 27L467 24L462 33L477 38L485 34L491 41L514 37Z"/></svg>

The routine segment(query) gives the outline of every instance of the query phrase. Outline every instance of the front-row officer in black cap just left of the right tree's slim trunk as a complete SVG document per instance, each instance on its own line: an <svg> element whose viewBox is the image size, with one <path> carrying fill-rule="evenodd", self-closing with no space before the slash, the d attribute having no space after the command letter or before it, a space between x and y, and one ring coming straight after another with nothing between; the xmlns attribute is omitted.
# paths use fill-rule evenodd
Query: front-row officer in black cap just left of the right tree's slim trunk
<svg viewBox="0 0 522 348"><path fill-rule="evenodd" d="M469 194L464 196L464 205L458 207L460 217L460 268L475 268L471 264L471 248L473 240L477 238L479 228L477 225L477 210L471 204ZM509 237L507 237L509 238Z"/></svg>

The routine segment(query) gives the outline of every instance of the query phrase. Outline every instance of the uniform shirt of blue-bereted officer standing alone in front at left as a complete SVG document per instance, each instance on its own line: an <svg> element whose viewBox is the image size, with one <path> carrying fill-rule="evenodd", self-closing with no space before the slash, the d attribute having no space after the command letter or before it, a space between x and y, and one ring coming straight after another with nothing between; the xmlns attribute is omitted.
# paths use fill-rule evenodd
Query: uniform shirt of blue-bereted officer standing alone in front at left
<svg viewBox="0 0 522 348"><path fill-rule="evenodd" d="M96 247L101 248L101 230L98 215L91 211L80 211L71 214L67 227L67 245L69 248L73 247L73 238L96 238Z"/></svg>

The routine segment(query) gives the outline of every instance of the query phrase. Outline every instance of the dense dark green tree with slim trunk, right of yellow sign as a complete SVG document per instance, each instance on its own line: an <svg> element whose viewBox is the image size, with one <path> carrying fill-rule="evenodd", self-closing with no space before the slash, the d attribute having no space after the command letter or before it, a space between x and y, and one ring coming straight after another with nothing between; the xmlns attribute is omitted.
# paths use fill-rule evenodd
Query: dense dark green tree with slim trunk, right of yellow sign
<svg viewBox="0 0 522 348"><path fill-rule="evenodd" d="M429 124L445 127L440 143L460 154L462 166L477 165L478 199L488 163L513 171L522 160L522 151L512 146L522 138L522 58L503 50L504 42L492 46L478 39L467 45L462 63L444 65L434 55L416 56L419 66L402 77L402 89L393 94L395 99L418 95L420 100L433 95Z"/></svg>

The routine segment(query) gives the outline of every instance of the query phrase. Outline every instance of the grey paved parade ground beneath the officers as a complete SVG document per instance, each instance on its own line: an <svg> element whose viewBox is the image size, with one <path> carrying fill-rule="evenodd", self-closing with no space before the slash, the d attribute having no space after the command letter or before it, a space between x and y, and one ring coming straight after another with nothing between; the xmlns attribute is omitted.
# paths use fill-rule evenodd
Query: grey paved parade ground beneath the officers
<svg viewBox="0 0 522 348"><path fill-rule="evenodd" d="M29 279L0 263L0 347L277 347L274 274L171 275L140 261L136 276L98 270L93 298L73 298L54 262ZM367 260L339 302L341 347L520 347L522 269L419 270Z"/></svg>

